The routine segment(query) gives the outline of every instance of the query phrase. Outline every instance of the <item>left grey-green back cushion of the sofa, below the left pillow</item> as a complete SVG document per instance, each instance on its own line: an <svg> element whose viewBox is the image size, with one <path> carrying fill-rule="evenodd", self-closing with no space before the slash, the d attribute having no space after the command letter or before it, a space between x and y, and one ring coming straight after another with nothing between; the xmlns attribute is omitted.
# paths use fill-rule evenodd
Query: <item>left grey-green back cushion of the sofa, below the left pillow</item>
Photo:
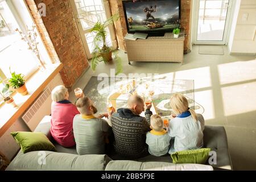
<svg viewBox="0 0 256 182"><path fill-rule="evenodd" d="M104 171L111 159L107 155L74 155L52 151L18 154L7 171Z"/></svg>

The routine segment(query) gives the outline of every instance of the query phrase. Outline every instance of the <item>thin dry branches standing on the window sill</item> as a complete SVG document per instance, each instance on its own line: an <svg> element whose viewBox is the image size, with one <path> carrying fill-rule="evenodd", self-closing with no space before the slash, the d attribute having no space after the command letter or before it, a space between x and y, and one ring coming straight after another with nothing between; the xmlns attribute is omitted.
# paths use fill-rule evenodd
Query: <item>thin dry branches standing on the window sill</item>
<svg viewBox="0 0 256 182"><path fill-rule="evenodd" d="M31 29L29 29L27 27L27 32L28 32L27 36L25 36L23 34L23 32L20 31L18 28L16 28L15 31L19 32L19 35L22 37L22 40L24 40L24 42L27 43L28 49L30 49L36 55L36 57L38 57L40 67L42 67L42 69L46 69L46 66L44 65L44 63L43 63L43 61L40 57L39 51L38 51L39 42L36 41L36 38L38 37L38 34L36 33L35 28L36 28L35 25L33 25L31 27Z"/></svg>

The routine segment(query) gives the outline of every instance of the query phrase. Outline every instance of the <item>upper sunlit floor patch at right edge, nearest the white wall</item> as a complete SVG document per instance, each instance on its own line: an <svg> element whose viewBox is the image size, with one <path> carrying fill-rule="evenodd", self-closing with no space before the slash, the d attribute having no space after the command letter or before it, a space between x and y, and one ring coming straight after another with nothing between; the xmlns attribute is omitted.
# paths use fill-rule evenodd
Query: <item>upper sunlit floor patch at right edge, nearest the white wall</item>
<svg viewBox="0 0 256 182"><path fill-rule="evenodd" d="M256 79L256 60L238 61L218 65L220 84Z"/></svg>

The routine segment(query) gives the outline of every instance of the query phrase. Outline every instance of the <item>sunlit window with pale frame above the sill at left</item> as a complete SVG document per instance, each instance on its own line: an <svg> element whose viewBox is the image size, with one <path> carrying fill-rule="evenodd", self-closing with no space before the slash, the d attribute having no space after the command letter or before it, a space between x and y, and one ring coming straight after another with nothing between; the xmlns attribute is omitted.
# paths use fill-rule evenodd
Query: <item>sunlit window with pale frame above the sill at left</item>
<svg viewBox="0 0 256 182"><path fill-rule="evenodd" d="M27 28L31 29L34 24L32 16L24 1L0 0L0 79L8 80L11 71L22 73L25 78L32 76L38 70L39 60L36 55L28 49L28 45L21 39L18 28L27 35ZM52 64L52 61L44 47L39 33L36 42L44 63ZM4 81L4 82L6 82ZM2 89L4 84L0 84ZM0 101L1 104L1 101Z"/></svg>

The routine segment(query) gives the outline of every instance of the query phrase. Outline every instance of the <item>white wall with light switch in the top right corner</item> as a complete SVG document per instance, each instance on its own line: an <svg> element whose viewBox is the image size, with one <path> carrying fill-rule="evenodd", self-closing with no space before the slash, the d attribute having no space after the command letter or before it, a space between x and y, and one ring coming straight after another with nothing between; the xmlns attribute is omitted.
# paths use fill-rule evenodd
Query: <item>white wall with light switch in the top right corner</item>
<svg viewBox="0 0 256 182"><path fill-rule="evenodd" d="M229 51L230 53L256 53L256 0L238 0L235 6Z"/></svg>

